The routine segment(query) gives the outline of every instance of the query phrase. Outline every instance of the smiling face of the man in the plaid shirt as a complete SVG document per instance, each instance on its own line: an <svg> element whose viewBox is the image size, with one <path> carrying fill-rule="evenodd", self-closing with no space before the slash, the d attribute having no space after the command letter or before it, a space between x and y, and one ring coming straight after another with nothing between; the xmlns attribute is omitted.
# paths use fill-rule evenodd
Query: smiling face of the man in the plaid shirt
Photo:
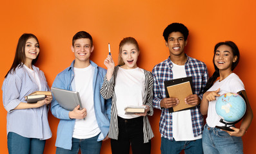
<svg viewBox="0 0 256 154"><path fill-rule="evenodd" d="M170 56L180 56L184 54L186 44L187 40L184 40L184 36L179 31L170 33L168 41L165 42L165 45L169 48Z"/></svg>

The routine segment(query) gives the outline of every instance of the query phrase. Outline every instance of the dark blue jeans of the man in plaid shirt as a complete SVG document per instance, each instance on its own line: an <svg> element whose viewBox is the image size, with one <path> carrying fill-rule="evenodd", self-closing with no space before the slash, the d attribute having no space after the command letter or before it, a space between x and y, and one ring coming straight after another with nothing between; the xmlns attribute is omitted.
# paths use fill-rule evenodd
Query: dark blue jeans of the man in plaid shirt
<svg viewBox="0 0 256 154"><path fill-rule="evenodd" d="M184 150L186 154L202 154L202 139L193 141L170 141L161 137L162 154L181 153L182 150Z"/></svg>

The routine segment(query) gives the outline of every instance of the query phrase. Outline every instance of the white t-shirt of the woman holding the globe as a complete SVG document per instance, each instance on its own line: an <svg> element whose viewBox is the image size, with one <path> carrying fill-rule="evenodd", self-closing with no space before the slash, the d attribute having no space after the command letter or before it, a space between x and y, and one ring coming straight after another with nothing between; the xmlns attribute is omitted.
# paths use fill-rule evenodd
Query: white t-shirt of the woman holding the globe
<svg viewBox="0 0 256 154"><path fill-rule="evenodd" d="M244 83L240 80L239 76L235 73L231 73L228 77L226 77L222 81L215 81L213 86L208 91L215 91L217 89L221 89L219 94L225 94L227 92L237 93L241 90L244 90ZM224 124L220 123L221 117L217 115L215 110L216 101L219 97L216 97L216 100L210 101L208 106L208 114L206 118L206 123L210 127L215 126L224 126Z"/></svg>

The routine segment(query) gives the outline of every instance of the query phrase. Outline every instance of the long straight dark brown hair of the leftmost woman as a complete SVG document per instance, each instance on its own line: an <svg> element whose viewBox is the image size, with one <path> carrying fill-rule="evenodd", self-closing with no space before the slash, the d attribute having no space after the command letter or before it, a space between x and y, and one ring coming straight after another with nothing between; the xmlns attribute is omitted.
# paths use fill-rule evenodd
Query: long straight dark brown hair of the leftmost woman
<svg viewBox="0 0 256 154"><path fill-rule="evenodd" d="M5 78L8 75L8 73L15 73L15 69L16 69L16 67L19 66L19 64L21 64L21 67L22 67L23 64L25 63L25 60L26 60L26 55L25 55L26 40L28 40L30 38L34 38L35 40L37 40L37 43L39 45L39 41L38 41L37 37L35 37L34 34L24 33L23 35L21 35L21 37L19 38L18 44L17 44L17 48L16 48L16 52L15 52L15 56L14 56L14 62L12 63L12 67L6 73ZM34 65L35 62L37 62L38 57L39 57L39 55L37 55L37 58L32 60L32 65Z"/></svg>

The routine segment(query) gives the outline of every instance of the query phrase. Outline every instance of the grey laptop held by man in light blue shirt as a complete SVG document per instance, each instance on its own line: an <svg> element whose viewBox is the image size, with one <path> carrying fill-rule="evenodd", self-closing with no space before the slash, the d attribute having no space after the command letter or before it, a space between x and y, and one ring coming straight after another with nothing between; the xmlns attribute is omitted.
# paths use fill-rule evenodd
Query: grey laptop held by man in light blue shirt
<svg viewBox="0 0 256 154"><path fill-rule="evenodd" d="M51 90L54 98L64 109L72 111L77 105L80 105L79 109L83 109L79 92L54 87Z"/></svg>

